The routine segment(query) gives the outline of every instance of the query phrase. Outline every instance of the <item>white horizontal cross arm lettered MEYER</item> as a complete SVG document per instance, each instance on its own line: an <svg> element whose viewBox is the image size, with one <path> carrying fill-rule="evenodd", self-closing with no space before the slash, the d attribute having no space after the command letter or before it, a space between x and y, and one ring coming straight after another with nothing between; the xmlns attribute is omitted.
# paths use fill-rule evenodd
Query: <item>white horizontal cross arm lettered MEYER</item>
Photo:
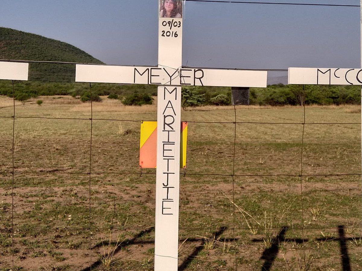
<svg viewBox="0 0 362 271"><path fill-rule="evenodd" d="M76 82L172 86L266 87L266 71L152 66L76 65Z"/></svg>

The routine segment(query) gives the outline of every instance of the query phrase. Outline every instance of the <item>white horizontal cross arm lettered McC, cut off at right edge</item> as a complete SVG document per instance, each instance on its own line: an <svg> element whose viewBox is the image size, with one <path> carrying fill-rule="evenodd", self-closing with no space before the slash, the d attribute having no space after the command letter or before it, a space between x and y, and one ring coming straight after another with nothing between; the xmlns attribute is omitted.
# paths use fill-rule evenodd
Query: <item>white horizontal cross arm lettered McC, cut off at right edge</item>
<svg viewBox="0 0 362 271"><path fill-rule="evenodd" d="M362 69L289 68L288 84L362 85Z"/></svg>

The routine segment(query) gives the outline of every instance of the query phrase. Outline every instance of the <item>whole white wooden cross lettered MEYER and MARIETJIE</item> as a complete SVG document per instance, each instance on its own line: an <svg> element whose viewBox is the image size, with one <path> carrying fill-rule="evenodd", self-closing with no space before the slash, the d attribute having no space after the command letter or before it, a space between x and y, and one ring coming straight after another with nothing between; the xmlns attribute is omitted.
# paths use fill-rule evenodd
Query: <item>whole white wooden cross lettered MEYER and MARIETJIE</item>
<svg viewBox="0 0 362 271"><path fill-rule="evenodd" d="M176 271L180 181L181 86L266 87L266 71L182 68L181 0L156 0L164 11L170 2L176 17L159 18L158 66L76 65L76 82L156 84L157 162L155 270ZM164 1L167 2L164 4ZM177 5L178 4L178 5ZM178 10L175 10L179 8ZM181 17L181 18L177 18Z"/></svg>

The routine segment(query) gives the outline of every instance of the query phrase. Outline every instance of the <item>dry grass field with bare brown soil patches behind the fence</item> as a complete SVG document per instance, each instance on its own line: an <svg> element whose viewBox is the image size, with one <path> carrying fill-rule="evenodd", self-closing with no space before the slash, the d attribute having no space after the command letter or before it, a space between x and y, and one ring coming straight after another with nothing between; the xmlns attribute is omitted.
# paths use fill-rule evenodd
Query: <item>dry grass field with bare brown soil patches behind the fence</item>
<svg viewBox="0 0 362 271"><path fill-rule="evenodd" d="M156 105L37 99L13 119L0 96L0 271L153 270ZM183 111L179 270L362 270L360 112L308 106L303 133L303 107L237 106L235 133L234 107Z"/></svg>

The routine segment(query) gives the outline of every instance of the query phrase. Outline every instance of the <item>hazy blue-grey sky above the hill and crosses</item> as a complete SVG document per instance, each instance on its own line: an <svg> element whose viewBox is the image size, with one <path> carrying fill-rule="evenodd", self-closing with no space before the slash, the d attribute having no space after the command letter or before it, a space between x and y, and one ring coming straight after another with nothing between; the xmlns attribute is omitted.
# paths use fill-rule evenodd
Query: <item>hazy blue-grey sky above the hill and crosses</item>
<svg viewBox="0 0 362 271"><path fill-rule="evenodd" d="M358 0L264 1L359 5ZM2 27L70 43L106 64L157 65L158 0L2 0L1 5ZM183 15L183 65L361 65L358 7L186 1Z"/></svg>

